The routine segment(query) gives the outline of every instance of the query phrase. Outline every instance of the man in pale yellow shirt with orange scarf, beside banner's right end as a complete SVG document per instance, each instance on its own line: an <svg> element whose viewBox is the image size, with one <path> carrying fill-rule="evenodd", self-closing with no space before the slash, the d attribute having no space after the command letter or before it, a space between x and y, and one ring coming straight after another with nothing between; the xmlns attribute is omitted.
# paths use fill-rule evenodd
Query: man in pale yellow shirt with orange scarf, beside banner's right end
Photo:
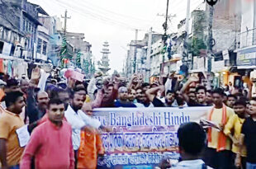
<svg viewBox="0 0 256 169"><path fill-rule="evenodd" d="M217 88L212 92L214 107L208 115L208 120L212 122L208 129L208 148L206 148L205 162L210 167L216 169L233 168L231 140L223 133L225 124L234 115L234 110L223 103L223 90Z"/></svg>

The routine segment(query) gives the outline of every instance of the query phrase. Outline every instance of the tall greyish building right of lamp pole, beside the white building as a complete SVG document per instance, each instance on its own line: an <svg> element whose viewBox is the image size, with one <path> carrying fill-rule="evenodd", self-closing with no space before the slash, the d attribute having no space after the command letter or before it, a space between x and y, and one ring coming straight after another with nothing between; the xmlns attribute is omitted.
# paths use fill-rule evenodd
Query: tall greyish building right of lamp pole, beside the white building
<svg viewBox="0 0 256 169"><path fill-rule="evenodd" d="M214 40L213 58L211 59L211 72L215 73L216 87L241 78L236 66L236 54L234 52L239 45L237 34L240 32L241 24L241 2L243 1L218 1L213 15L212 34ZM206 6L209 16L209 6ZM206 62L207 63L207 62ZM236 86L239 86L237 84Z"/></svg>

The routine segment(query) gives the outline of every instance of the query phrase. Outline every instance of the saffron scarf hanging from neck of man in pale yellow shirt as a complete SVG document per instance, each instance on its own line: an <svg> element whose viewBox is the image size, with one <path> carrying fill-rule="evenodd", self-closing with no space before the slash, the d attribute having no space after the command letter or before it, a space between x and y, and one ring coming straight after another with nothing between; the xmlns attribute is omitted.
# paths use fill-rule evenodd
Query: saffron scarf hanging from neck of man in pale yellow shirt
<svg viewBox="0 0 256 169"><path fill-rule="evenodd" d="M209 120L211 120L211 116L213 114L214 109L215 109L215 107L213 107L211 109L211 113L209 115ZM226 122L227 122L226 116L227 116L226 115L226 106L223 104L221 124L226 124ZM211 131L212 131L212 129L209 128L209 130L208 130L208 142L211 142ZM217 152L225 150L225 147L226 147L226 136L223 133L223 131L220 131L219 132L219 138L218 138Z"/></svg>

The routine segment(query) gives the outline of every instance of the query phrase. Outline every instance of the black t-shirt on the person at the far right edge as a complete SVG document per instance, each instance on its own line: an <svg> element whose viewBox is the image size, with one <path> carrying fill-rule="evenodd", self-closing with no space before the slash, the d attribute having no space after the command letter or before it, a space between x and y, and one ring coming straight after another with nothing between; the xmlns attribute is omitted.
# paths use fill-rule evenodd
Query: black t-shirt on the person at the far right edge
<svg viewBox="0 0 256 169"><path fill-rule="evenodd" d="M251 117L244 121L242 126L244 143L247 149L247 162L256 163L256 121Z"/></svg>

